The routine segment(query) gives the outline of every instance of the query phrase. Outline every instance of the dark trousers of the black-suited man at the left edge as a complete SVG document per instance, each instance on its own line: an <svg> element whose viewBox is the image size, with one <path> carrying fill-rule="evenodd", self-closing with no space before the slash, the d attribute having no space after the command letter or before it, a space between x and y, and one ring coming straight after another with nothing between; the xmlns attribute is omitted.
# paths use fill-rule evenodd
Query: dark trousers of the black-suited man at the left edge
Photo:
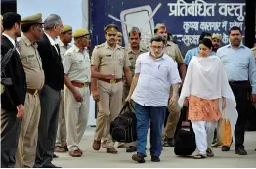
<svg viewBox="0 0 256 169"><path fill-rule="evenodd" d="M1 168L14 168L22 118L16 111L1 109Z"/></svg>

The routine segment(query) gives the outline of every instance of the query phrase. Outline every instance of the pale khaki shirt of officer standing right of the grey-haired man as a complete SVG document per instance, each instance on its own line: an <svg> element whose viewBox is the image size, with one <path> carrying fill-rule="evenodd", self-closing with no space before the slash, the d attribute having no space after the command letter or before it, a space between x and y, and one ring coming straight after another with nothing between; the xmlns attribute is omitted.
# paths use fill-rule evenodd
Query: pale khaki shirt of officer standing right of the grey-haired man
<svg viewBox="0 0 256 169"><path fill-rule="evenodd" d="M64 74L66 74L71 81L80 83L91 81L91 63L86 50L81 52L78 47L73 45L66 51L63 65Z"/></svg>

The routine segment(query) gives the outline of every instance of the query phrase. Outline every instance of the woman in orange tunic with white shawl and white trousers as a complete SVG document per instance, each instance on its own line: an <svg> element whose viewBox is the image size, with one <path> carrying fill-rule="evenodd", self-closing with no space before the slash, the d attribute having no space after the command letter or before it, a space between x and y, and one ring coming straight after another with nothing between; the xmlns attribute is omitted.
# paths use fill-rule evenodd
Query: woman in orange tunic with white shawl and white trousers
<svg viewBox="0 0 256 169"><path fill-rule="evenodd" d="M233 131L237 120L235 97L224 65L217 56L211 56L211 50L211 40L200 41L199 55L194 56L189 64L179 99L180 106L190 105L189 119L198 149L195 159L214 156L211 143L224 108Z"/></svg>

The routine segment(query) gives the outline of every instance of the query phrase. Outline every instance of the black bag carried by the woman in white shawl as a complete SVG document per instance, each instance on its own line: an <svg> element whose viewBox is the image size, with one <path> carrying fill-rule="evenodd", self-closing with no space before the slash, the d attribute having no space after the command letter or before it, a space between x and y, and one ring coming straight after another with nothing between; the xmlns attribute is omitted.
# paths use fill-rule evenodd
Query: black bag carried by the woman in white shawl
<svg viewBox="0 0 256 169"><path fill-rule="evenodd" d="M195 134L192 130L192 123L190 121L190 129L182 129L183 117L186 111L181 112L181 117L177 125L178 132L175 138L174 153L178 156L190 156L196 149Z"/></svg>

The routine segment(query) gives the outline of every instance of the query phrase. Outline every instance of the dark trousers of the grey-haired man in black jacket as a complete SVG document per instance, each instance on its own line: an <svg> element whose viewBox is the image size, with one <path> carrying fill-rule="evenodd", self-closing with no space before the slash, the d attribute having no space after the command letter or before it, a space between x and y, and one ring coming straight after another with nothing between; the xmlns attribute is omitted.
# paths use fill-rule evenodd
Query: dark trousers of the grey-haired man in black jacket
<svg viewBox="0 0 256 169"><path fill-rule="evenodd" d="M47 167L53 160L60 99L60 91L48 85L45 85L40 93L41 116L38 126L35 168Z"/></svg>

